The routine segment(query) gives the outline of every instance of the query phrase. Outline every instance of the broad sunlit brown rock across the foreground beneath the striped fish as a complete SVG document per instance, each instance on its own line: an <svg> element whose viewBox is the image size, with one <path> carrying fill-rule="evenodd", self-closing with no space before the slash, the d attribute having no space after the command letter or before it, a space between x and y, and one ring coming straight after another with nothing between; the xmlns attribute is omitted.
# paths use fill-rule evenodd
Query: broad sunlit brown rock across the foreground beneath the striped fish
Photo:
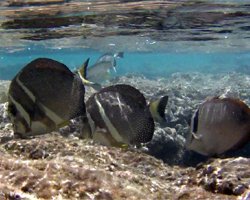
<svg viewBox="0 0 250 200"><path fill-rule="evenodd" d="M235 167L249 160L218 162ZM0 195L9 199L237 198L204 189L206 166L169 166L137 149L95 145L56 132L1 144L0 163ZM245 172L237 172L237 185L248 180Z"/></svg>

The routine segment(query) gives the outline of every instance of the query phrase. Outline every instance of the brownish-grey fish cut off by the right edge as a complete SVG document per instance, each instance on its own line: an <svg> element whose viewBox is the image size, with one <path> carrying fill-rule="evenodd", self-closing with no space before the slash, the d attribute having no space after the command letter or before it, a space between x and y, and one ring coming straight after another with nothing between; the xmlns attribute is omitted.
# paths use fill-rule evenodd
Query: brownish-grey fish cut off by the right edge
<svg viewBox="0 0 250 200"><path fill-rule="evenodd" d="M187 148L216 156L250 141L250 108L239 99L213 97L194 113Z"/></svg>

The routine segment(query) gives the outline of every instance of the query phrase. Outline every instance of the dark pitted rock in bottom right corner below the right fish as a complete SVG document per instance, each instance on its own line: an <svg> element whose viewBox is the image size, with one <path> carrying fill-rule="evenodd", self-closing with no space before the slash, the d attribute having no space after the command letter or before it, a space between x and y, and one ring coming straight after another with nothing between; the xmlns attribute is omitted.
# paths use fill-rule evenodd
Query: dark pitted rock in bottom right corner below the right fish
<svg viewBox="0 0 250 200"><path fill-rule="evenodd" d="M198 181L206 190L229 195L241 195L250 187L250 159L216 159L202 166Z"/></svg>

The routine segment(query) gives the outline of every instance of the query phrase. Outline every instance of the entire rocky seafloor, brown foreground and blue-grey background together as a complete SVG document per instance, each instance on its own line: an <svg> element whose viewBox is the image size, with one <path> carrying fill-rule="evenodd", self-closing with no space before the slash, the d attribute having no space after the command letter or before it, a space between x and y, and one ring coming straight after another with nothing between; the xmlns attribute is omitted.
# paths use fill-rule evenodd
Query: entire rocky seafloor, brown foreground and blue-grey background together
<svg viewBox="0 0 250 200"><path fill-rule="evenodd" d="M115 83L137 87L148 100L169 95L167 123L157 124L141 149L81 140L77 120L59 132L13 139L4 103L8 82L0 82L0 199L250 199L250 144L213 159L184 147L192 113L206 97L250 105L249 75L127 75L106 84Z"/></svg>

